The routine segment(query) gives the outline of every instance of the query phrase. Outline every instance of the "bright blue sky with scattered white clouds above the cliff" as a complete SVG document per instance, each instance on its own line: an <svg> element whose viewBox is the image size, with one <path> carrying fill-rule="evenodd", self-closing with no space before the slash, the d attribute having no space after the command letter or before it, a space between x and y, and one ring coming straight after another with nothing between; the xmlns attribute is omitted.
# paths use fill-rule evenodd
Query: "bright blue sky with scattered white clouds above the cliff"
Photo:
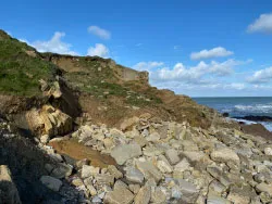
<svg viewBox="0 0 272 204"><path fill-rule="evenodd" d="M40 52L111 58L190 97L272 97L271 0L10 0L0 10L0 29Z"/></svg>

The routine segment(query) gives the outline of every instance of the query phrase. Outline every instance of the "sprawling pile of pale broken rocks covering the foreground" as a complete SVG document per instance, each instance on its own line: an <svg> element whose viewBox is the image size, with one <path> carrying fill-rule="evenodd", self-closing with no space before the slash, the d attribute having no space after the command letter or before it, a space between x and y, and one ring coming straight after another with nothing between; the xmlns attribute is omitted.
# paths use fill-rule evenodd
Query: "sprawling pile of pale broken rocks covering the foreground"
<svg viewBox="0 0 272 204"><path fill-rule="evenodd" d="M85 203L259 204L272 202L271 141L236 129L208 130L188 124L129 120L129 130L82 126L73 138L118 166L100 168L79 161L42 177L48 188L62 189L66 178L84 193ZM125 125L123 125L124 129Z"/></svg>

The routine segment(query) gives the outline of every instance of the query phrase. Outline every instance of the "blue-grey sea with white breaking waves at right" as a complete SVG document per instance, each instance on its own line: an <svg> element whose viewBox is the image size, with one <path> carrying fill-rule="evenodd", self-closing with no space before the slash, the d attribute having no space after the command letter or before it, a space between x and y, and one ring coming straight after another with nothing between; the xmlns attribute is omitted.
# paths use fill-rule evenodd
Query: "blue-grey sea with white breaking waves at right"
<svg viewBox="0 0 272 204"><path fill-rule="evenodd" d="M226 97L226 98L193 98L197 103L228 113L230 117L244 117L248 115L272 117L272 97ZM244 119L236 119L246 124L256 124ZM272 122L257 122L272 131Z"/></svg>

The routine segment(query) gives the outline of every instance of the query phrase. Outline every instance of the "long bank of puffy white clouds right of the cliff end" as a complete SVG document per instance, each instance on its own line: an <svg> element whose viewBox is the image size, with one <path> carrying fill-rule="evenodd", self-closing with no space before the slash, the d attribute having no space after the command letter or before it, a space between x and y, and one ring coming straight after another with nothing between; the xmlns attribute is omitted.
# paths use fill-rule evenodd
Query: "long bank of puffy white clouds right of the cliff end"
<svg viewBox="0 0 272 204"><path fill-rule="evenodd" d="M203 76L222 77L234 73L234 67L250 63L251 61L227 60L224 62L211 61L210 63L199 62L196 66L186 67L183 63L177 63L173 68L162 67L150 72L152 80L178 80L185 84L206 84Z"/></svg>

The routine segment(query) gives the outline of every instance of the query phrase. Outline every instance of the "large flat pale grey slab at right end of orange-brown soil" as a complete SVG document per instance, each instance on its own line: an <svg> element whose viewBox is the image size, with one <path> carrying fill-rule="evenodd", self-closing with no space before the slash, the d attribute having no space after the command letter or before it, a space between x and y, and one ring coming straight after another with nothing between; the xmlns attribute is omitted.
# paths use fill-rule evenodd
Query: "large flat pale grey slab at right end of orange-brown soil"
<svg viewBox="0 0 272 204"><path fill-rule="evenodd" d="M127 160L140 156L141 154L141 148L136 143L119 145L111 151L111 156L119 165L123 165Z"/></svg>

